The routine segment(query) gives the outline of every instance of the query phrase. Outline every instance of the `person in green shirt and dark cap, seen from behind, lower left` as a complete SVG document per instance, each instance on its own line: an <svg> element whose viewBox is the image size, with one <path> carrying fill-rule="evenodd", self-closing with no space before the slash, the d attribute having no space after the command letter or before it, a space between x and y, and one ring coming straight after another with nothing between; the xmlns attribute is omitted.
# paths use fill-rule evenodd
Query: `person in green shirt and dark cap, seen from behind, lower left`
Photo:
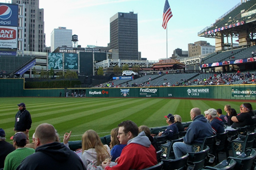
<svg viewBox="0 0 256 170"><path fill-rule="evenodd" d="M6 156L4 170L15 170L23 159L28 155L34 154L34 149L24 147L26 145L26 141L26 134L21 131L15 133L13 136L13 146L16 150Z"/></svg>

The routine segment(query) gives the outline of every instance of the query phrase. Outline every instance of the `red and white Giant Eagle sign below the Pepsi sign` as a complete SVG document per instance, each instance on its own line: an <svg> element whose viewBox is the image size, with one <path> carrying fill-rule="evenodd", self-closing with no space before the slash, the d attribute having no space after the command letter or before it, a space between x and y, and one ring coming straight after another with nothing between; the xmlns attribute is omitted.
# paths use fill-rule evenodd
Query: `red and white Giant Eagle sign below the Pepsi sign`
<svg viewBox="0 0 256 170"><path fill-rule="evenodd" d="M0 26L0 48L17 48L17 28Z"/></svg>

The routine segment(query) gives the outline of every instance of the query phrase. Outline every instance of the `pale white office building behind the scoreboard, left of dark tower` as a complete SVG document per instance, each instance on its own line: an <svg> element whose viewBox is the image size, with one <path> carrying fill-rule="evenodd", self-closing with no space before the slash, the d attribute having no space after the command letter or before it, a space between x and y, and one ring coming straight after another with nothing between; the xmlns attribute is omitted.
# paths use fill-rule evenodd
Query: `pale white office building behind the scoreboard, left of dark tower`
<svg viewBox="0 0 256 170"><path fill-rule="evenodd" d="M72 47L72 29L66 27L53 29L51 33L51 52L59 46Z"/></svg>

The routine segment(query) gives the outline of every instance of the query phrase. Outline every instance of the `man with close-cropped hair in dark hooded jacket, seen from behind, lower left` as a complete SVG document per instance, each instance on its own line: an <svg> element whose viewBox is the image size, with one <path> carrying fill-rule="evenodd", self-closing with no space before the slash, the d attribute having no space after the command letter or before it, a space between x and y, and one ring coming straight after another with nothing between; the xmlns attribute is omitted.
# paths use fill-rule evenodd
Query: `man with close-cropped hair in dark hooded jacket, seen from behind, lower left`
<svg viewBox="0 0 256 170"><path fill-rule="evenodd" d="M24 159L17 169L85 169L75 152L55 141L55 128L50 124L40 124L35 130L35 154Z"/></svg>

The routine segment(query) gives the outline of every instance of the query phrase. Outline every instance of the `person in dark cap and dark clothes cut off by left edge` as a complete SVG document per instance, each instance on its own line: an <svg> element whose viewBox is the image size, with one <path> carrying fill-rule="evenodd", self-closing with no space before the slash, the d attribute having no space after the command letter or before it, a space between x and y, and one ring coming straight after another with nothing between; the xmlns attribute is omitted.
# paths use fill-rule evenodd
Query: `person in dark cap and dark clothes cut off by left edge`
<svg viewBox="0 0 256 170"><path fill-rule="evenodd" d="M0 128L0 168L3 168L6 156L15 150L13 145L6 142L5 140L5 130Z"/></svg>

